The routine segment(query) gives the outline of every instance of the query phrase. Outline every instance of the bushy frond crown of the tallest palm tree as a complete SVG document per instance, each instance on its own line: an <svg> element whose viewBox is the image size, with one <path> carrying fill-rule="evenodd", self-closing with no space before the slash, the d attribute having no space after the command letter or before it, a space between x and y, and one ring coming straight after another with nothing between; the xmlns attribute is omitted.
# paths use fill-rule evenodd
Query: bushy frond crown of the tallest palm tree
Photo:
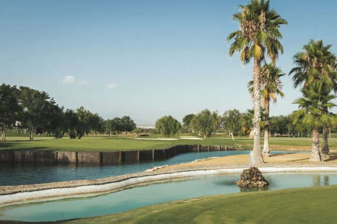
<svg viewBox="0 0 337 224"><path fill-rule="evenodd" d="M251 0L249 4L239 7L241 10L233 15L233 21L240 23L240 30L231 32L227 38L228 42L234 39L229 55L241 52L240 60L247 64L251 58L262 60L267 48L267 55L275 62L278 52L283 53L279 41L282 34L278 29L288 22L274 9L269 9L269 0Z"/></svg>

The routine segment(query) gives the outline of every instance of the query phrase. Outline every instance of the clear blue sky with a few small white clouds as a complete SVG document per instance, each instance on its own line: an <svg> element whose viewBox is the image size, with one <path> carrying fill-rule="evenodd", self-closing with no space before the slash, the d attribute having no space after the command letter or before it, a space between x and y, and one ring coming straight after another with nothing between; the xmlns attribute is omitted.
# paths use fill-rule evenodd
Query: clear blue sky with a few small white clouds
<svg viewBox="0 0 337 224"><path fill-rule="evenodd" d="M229 58L238 4L247 0L0 0L0 82L44 90L60 106L100 116L129 115L151 126L208 108L220 114L253 107L252 64ZM309 39L337 52L337 1L271 0L283 26L289 73ZM300 96L282 77L284 98L271 115L289 114ZM335 110L337 112L337 110Z"/></svg>

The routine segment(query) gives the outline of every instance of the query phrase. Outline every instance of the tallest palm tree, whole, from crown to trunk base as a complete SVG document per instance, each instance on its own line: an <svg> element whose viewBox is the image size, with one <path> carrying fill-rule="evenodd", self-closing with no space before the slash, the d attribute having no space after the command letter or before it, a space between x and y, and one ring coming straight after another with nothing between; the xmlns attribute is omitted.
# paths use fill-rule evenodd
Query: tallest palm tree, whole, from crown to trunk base
<svg viewBox="0 0 337 224"><path fill-rule="evenodd" d="M272 60L276 60L279 51L283 53L279 42L282 35L278 29L281 24L287 24L287 21L274 9L269 8L269 0L251 0L247 5L239 5L239 8L240 12L233 15L233 21L240 23L240 29L230 33L227 41L230 42L233 39L230 44L230 56L234 52L240 52L240 61L243 64L254 60L253 154L255 165L259 165L263 162L260 144L261 61L264 59L265 51Z"/></svg>

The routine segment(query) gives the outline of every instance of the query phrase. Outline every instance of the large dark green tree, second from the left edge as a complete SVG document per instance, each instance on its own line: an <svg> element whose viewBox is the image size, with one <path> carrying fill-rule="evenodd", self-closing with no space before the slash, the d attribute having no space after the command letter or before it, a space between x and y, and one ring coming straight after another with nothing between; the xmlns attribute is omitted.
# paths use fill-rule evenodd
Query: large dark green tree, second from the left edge
<svg viewBox="0 0 337 224"><path fill-rule="evenodd" d="M48 108L50 104L55 104L55 101L44 91L20 86L19 104L23 108L20 121L28 128L30 140L33 141L36 128L46 123Z"/></svg>

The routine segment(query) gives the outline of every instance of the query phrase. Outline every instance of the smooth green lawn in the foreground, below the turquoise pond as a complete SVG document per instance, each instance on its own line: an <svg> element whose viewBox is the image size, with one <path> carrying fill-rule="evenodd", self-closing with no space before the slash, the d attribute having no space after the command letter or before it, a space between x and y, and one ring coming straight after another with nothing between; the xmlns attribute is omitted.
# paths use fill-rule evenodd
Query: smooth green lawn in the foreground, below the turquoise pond
<svg viewBox="0 0 337 224"><path fill-rule="evenodd" d="M332 185L206 196L56 223L332 224L336 204L337 185Z"/></svg>

